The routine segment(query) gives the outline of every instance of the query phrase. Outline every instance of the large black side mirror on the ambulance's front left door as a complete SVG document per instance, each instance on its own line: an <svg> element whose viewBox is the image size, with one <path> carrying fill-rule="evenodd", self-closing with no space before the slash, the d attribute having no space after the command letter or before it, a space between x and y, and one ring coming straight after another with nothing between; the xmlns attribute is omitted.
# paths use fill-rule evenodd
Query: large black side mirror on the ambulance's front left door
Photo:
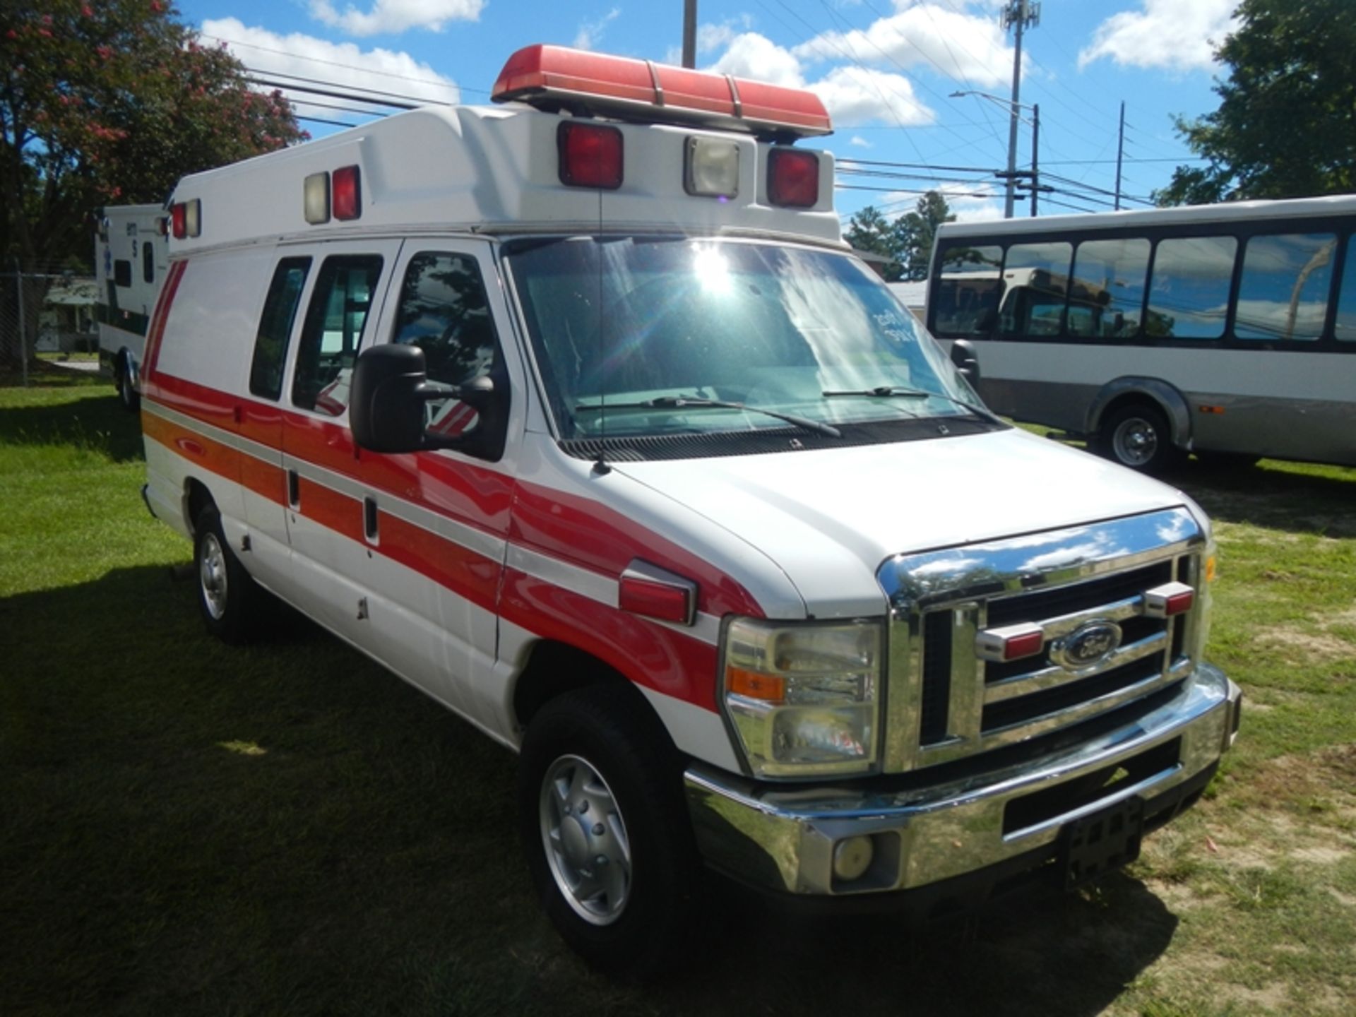
<svg viewBox="0 0 1356 1017"><path fill-rule="evenodd" d="M456 435L428 431L424 405L441 399L456 399L476 411L477 426ZM358 354L348 397L348 426L358 446L372 452L456 449L498 458L503 453L507 403L507 391L492 377L461 386L430 382L423 350L391 343Z"/></svg>

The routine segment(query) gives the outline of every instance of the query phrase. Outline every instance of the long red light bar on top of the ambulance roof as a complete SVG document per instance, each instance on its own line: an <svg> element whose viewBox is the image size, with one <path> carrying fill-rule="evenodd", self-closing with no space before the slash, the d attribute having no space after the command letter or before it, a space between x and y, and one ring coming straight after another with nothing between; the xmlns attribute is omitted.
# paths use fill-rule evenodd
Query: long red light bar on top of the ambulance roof
<svg viewBox="0 0 1356 1017"><path fill-rule="evenodd" d="M823 102L803 88L567 46L518 50L499 72L490 98L552 110L583 107L651 123L700 122L785 138L833 133Z"/></svg>

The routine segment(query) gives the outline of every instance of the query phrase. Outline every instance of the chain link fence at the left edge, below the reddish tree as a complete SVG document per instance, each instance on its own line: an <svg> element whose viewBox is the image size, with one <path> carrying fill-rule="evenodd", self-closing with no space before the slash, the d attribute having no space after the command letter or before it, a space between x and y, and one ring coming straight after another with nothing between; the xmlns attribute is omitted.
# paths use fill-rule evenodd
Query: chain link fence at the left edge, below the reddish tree
<svg viewBox="0 0 1356 1017"><path fill-rule="evenodd" d="M98 304L91 277L0 273L0 372L27 385L41 354L98 353Z"/></svg>

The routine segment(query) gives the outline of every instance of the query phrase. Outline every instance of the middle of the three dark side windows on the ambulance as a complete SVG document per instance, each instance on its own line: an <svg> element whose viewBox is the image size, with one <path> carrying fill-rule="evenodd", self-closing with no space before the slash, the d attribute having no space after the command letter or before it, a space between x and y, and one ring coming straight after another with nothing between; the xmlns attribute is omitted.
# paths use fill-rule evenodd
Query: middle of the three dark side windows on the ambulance
<svg viewBox="0 0 1356 1017"><path fill-rule="evenodd" d="M353 363L380 278L381 255L335 255L320 266L297 346L293 404L331 416L347 408Z"/></svg>

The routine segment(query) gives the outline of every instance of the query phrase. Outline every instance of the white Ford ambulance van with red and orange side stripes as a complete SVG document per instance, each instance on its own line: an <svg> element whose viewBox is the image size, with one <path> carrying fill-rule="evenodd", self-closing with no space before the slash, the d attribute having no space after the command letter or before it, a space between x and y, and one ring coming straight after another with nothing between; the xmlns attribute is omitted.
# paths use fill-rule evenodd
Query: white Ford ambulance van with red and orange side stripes
<svg viewBox="0 0 1356 1017"><path fill-rule="evenodd" d="M145 494L207 628L273 594L518 750L545 909L633 974L702 864L926 913L1195 803L1210 521L976 401L819 100L552 46L494 98L175 190Z"/></svg>

